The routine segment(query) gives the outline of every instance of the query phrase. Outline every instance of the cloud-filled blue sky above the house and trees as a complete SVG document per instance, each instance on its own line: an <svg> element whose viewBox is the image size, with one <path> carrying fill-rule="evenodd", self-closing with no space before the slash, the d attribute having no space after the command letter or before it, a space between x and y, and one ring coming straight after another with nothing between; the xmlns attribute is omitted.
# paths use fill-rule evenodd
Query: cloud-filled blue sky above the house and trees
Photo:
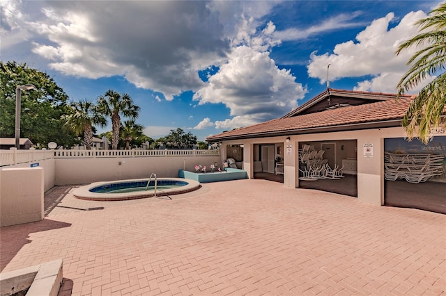
<svg viewBox="0 0 446 296"><path fill-rule="evenodd" d="M73 101L127 92L152 138L204 140L304 104L328 64L331 88L394 92L415 52L395 50L439 3L5 0L1 60L47 72Z"/></svg>

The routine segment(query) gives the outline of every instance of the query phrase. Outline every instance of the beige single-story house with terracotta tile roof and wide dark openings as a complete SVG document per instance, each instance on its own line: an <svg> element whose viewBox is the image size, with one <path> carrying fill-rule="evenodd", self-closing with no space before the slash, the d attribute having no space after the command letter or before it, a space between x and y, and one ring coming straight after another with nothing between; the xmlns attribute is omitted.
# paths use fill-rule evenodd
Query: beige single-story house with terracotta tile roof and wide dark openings
<svg viewBox="0 0 446 296"><path fill-rule="evenodd" d="M234 161L242 163L250 179L281 181L289 188L337 192L369 204L392 204L396 197L390 197L395 195L390 192L399 192L394 186L399 182L389 185L389 180L385 179L386 167L389 167L385 165L385 156L392 152L404 154L417 149L418 152L411 152L411 155L436 151L445 156L443 168L438 169L436 175L424 179L429 183L437 181L435 186L446 192L444 129L435 131L432 144L438 149L422 147L417 140L404 140L406 133L401 127L401 120L412 100L413 96L410 95L397 98L397 94L329 88L283 117L210 135L206 140L220 142L222 161L238 155ZM401 147L390 151L390 147L396 145L395 141L400 141L398 145ZM385 147L386 142L389 149ZM418 146L413 148L415 144ZM315 151L313 158L310 150ZM314 165L316 161L319 162ZM322 166L325 167L323 172L316 172L317 167ZM337 170L337 177L330 170ZM402 176L392 181L402 179L404 183L399 183L399 186L407 188L408 182L404 174ZM408 177L413 180L411 178ZM418 183L426 183L424 179L420 176ZM433 197L442 198L446 199L444 196ZM443 203L440 212L446 213L445 200L434 200L431 208L438 208L436 202ZM401 201L397 205L404 206ZM408 206L420 208L411 204ZM428 209L431 208L428 206Z"/></svg>

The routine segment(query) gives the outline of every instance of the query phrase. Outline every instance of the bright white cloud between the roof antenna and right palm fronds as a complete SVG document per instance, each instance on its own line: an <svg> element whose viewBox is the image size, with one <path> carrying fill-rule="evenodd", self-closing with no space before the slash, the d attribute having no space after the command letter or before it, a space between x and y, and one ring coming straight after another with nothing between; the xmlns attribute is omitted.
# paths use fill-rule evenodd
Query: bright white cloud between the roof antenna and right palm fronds
<svg viewBox="0 0 446 296"><path fill-rule="evenodd" d="M375 19L364 31L356 36L357 42L350 40L337 44L333 54L313 53L308 65L310 77L321 83L327 79L327 65L330 64L330 81L344 77L372 75L374 78L358 83L355 89L379 92L394 92L397 82L407 71L406 65L415 48L395 54L399 44L418 33L414 26L418 19L426 17L422 11L411 12L392 28L394 14Z"/></svg>

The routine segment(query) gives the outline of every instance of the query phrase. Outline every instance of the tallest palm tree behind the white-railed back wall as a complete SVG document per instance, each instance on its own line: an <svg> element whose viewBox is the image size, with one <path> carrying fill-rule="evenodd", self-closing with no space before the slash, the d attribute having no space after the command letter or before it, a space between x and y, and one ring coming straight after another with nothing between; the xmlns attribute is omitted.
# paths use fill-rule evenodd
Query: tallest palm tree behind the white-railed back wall
<svg viewBox="0 0 446 296"><path fill-rule="evenodd" d="M139 106L133 104L128 94L119 94L114 90L107 90L98 98L98 106L103 115L112 118L112 149L118 149L119 128L121 127L121 115L135 119L138 117Z"/></svg>

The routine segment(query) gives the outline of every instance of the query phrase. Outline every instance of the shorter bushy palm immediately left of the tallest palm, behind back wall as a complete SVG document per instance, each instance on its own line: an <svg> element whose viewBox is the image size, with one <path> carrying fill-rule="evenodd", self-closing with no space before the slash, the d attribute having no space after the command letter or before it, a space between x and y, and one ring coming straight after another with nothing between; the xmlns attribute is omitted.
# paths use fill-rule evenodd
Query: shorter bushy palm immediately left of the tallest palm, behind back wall
<svg viewBox="0 0 446 296"><path fill-rule="evenodd" d="M98 107L91 101L82 100L71 104L72 113L61 118L66 128L77 135L84 134L86 149L91 149L93 142L93 126L105 126L107 120L98 113Z"/></svg>

